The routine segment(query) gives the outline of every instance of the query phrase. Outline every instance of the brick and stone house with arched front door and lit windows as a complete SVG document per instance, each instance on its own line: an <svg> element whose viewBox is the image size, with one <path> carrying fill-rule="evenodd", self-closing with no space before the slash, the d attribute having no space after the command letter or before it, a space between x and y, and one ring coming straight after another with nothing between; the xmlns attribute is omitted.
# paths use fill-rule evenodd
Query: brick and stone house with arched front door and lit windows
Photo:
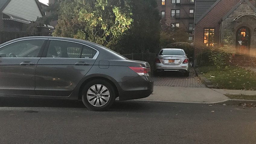
<svg viewBox="0 0 256 144"><path fill-rule="evenodd" d="M234 62L255 57L255 6L256 0L195 0L194 57L204 47L224 44L228 35Z"/></svg>

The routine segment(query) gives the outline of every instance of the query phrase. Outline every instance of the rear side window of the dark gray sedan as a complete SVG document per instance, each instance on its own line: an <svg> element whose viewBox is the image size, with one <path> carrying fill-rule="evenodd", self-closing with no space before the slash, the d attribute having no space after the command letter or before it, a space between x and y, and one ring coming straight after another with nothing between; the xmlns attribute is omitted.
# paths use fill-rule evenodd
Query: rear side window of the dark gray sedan
<svg viewBox="0 0 256 144"><path fill-rule="evenodd" d="M51 40L47 58L93 58L96 50L82 44L68 41Z"/></svg>

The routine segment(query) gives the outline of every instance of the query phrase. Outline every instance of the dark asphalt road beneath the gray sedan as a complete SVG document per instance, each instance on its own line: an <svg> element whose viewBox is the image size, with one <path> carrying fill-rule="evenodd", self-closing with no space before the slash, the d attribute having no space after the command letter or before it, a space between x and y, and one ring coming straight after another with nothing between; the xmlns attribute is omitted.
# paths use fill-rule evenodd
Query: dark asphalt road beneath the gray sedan
<svg viewBox="0 0 256 144"><path fill-rule="evenodd" d="M0 98L0 143L255 144L256 108L116 101L93 112L79 101Z"/></svg>

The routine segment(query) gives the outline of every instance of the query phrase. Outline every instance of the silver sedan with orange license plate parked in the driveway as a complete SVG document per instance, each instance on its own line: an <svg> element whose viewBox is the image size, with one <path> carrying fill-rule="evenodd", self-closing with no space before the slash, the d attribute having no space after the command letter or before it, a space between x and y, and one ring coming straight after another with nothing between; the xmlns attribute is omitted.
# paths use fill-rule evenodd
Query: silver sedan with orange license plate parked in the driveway
<svg viewBox="0 0 256 144"><path fill-rule="evenodd" d="M162 71L179 71L189 76L189 59L183 49L161 49L155 58L154 74Z"/></svg>

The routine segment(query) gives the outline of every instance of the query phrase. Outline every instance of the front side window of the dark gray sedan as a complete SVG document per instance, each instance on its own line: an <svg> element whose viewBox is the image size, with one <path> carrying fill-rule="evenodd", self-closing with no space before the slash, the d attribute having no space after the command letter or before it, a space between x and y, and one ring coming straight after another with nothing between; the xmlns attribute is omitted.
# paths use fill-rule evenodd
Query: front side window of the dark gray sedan
<svg viewBox="0 0 256 144"><path fill-rule="evenodd" d="M24 40L0 49L0 58L36 58L45 40Z"/></svg>

